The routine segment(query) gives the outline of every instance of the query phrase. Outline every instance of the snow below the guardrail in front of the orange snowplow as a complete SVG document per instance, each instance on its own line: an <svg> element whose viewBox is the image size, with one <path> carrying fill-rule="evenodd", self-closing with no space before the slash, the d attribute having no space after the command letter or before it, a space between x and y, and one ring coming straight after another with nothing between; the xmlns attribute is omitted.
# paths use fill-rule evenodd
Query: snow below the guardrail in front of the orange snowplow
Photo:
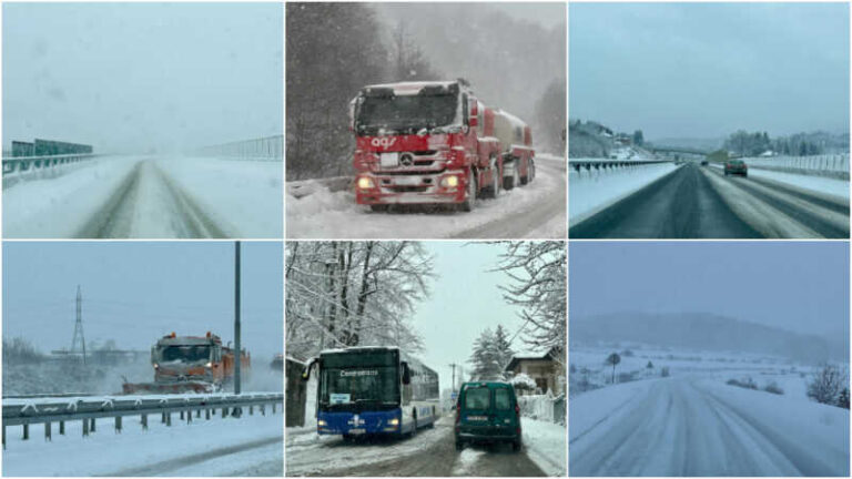
<svg viewBox="0 0 852 479"><path fill-rule="evenodd" d="M80 421L65 424L65 436L53 425L53 440L45 442L41 426L31 426L31 439L21 440L20 427L9 427L3 451L3 476L211 476L230 472L281 475L283 420L280 412L243 418L216 416L192 424L172 416L172 426L149 416L143 431L138 417L125 417L115 434L111 419L99 419L97 432L82 437ZM257 447L247 447L257 442ZM237 451L227 450L234 448ZM194 456L194 458L190 458ZM189 458L182 460L181 458ZM49 460L45 460L49 459ZM175 461L172 461L175 460ZM278 465L275 469L274 465ZM273 472L273 473L270 473Z"/></svg>

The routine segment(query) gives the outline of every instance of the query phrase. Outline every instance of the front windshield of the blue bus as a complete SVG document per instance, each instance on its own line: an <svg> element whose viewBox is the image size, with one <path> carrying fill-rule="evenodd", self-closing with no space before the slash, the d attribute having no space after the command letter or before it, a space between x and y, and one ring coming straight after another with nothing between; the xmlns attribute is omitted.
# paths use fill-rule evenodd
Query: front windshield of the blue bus
<svg viewBox="0 0 852 479"><path fill-rule="evenodd" d="M383 409L399 404L399 375L394 366L323 368L321 381L323 409Z"/></svg>

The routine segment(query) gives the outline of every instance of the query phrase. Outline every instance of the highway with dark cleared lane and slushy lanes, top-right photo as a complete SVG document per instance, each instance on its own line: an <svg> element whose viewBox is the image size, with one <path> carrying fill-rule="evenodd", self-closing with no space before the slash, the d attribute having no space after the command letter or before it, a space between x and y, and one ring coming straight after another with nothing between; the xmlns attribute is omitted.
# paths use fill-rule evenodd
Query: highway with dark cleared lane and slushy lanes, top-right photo
<svg viewBox="0 0 852 479"><path fill-rule="evenodd" d="M727 177L714 166L687 163L572 224L572 238L841 238L849 236L849 183L818 191L752 170ZM787 180L787 179L784 179ZM604 181L602 184L606 182ZM816 185L821 187L822 184Z"/></svg>

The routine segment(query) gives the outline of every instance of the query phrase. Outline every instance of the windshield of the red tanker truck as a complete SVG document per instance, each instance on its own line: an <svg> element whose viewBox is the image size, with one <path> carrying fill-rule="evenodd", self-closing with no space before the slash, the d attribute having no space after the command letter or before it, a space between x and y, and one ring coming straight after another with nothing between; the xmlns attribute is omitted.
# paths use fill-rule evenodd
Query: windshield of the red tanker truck
<svg viewBox="0 0 852 479"><path fill-rule="evenodd" d="M361 135L379 130L416 133L423 129L448 126L456 120L458 93L364 96L357 110Z"/></svg>

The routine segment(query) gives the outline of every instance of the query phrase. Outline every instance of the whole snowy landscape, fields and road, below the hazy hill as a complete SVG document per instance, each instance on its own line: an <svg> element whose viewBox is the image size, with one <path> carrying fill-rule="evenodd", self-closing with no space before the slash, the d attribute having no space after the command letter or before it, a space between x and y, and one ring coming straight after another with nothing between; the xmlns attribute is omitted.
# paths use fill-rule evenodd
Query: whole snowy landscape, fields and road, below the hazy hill
<svg viewBox="0 0 852 479"><path fill-rule="evenodd" d="M641 345L572 345L569 361L571 475L849 475L849 410L808 398L814 365Z"/></svg>

